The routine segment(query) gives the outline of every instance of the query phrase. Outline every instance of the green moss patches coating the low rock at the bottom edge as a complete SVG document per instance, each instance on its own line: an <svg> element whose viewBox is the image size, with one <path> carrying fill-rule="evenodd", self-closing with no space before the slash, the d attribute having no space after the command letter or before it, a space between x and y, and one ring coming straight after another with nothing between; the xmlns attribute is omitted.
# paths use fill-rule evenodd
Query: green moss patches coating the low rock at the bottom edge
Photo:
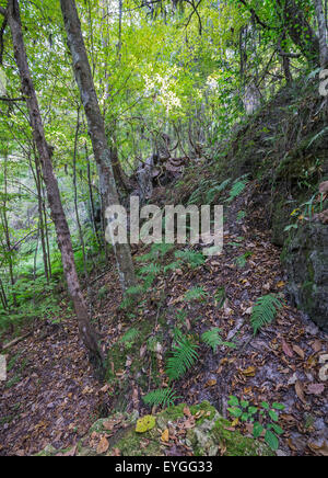
<svg viewBox="0 0 328 478"><path fill-rule="evenodd" d="M162 456L164 445L161 443L161 435L168 426L176 428L178 431L183 421L186 403L167 408L153 417L155 425L152 430L143 433L136 432L138 413L115 413L107 419L98 420L79 444L78 456L95 456L96 449L83 446L90 443L91 435L96 432L99 436L108 433L104 422L117 422L117 428L113 436L108 437L109 449L107 456L113 454L113 448L118 448L122 456ZM195 456L215 456L219 449L225 449L226 456L269 456L272 453L268 447L249 437L243 436L237 431L227 430L230 422L220 417L219 412L208 401L189 407L194 416L199 416L192 429L187 431L187 436L180 437L181 444L191 447ZM202 413L201 413L202 412ZM185 418L184 418L185 417ZM56 456L68 451L56 451L52 446L47 446L38 456Z"/></svg>

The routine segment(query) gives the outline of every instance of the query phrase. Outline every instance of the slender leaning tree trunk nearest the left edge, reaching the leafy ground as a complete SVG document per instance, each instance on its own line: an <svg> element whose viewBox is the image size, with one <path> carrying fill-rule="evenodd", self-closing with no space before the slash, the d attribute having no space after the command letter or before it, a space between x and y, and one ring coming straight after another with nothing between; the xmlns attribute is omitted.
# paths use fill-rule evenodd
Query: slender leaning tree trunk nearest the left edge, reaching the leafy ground
<svg viewBox="0 0 328 478"><path fill-rule="evenodd" d="M98 349L96 334L90 323L86 304L79 283L71 236L62 208L57 179L54 174L51 152L45 138L39 105L28 68L17 0L9 0L8 2L8 22L12 35L15 61L21 76L22 92L26 98L33 136L42 162L44 181L46 184L52 220L56 227L58 246L61 251L68 288L74 304L83 342L90 351L93 363L99 366L103 362L103 357Z"/></svg>

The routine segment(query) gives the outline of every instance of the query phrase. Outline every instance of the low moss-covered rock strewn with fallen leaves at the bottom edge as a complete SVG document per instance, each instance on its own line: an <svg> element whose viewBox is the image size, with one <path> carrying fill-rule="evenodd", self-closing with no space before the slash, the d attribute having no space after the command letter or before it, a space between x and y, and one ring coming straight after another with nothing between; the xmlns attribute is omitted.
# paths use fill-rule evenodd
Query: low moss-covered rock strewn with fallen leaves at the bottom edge
<svg viewBox="0 0 328 478"><path fill-rule="evenodd" d="M136 431L138 413L115 413L98 420L78 446L56 451L47 446L42 456L269 456L261 442L231 429L209 402L171 407L152 416L154 426ZM140 419L139 419L140 420Z"/></svg>

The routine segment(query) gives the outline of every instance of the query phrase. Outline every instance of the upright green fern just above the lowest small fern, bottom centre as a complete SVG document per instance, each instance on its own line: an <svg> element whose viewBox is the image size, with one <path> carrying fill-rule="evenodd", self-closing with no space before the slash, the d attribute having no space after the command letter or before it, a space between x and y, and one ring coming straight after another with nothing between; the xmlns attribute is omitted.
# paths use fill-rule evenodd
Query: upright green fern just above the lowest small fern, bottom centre
<svg viewBox="0 0 328 478"><path fill-rule="evenodd" d="M192 343L181 333L176 333L176 345L173 345L172 356L167 360L166 374L171 380L185 375L185 373L196 363L198 345Z"/></svg>

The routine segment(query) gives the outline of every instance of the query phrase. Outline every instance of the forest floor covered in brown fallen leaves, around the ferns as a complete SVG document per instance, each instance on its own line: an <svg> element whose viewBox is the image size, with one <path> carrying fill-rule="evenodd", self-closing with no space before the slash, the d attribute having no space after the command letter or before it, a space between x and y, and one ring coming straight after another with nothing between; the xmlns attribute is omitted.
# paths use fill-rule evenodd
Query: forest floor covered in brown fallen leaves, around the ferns
<svg viewBox="0 0 328 478"><path fill-rule="evenodd" d="M190 332L200 334L209 327L219 327L223 340L234 338L237 344L235 350L219 348L216 353L201 345L199 361L176 384L177 395L188 405L209 400L224 416L231 395L255 406L262 400L283 403L280 425L284 434L279 454L327 456L327 376L323 376L320 357L328 353L328 337L285 301L277 320L254 338L249 323L251 306L266 294L283 294L285 277L280 265L281 250L272 246L270 231L262 227L265 207L253 213L251 223L247 218L236 223L239 206L236 204L229 214L221 255L209 258L197 269L160 276L155 283L157 292L165 292L161 314L165 314L168 323L174 321L176 309L184 307ZM247 262L239 268L236 258L245 253ZM95 271L93 280L97 275L99 272ZM103 348L108 351L131 323L117 327L121 296L114 265L95 282L98 289L104 285L109 293L98 300L94 317L101 326ZM208 293L206 301L183 304L186 291L196 285ZM221 308L214 298L220 287L225 289ZM156 303L155 295L139 310L138 320L153 321L159 330ZM162 358L160 354L163 386L167 378ZM10 350L9 361L9 382L0 385L0 455L32 455L49 443L56 448L72 446L97 418L110 413L112 385L94 378L73 318L39 327L33 337ZM119 371L112 365L118 379L132 384L127 409L149 412L140 387L130 375L130 365L127 361L126 368ZM149 389L154 388L151 371L145 367L144 374L149 375ZM236 426L244 433L251 431L249 424Z"/></svg>

